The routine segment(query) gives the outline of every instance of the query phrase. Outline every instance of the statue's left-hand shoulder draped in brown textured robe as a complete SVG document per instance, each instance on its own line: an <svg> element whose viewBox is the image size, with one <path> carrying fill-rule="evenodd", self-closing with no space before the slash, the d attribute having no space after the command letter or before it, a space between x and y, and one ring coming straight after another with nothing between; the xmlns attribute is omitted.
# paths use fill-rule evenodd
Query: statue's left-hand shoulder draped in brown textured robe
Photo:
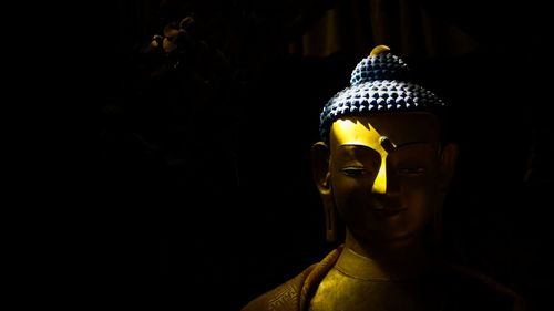
<svg viewBox="0 0 554 311"><path fill-rule="evenodd" d="M295 278L257 297L242 311L298 311L304 310L307 298L317 289L322 277L335 265L340 249L331 251L324 260L314 263Z"/></svg>

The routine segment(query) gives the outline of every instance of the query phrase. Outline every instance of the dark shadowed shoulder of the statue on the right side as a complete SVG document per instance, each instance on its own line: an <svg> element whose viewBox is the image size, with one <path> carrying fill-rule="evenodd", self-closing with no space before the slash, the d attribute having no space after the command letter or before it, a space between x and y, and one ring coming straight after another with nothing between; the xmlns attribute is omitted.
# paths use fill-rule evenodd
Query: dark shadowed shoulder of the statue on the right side
<svg viewBox="0 0 554 311"><path fill-rule="evenodd" d="M443 271L449 310L529 310L520 294L490 276L453 263L444 265Z"/></svg>

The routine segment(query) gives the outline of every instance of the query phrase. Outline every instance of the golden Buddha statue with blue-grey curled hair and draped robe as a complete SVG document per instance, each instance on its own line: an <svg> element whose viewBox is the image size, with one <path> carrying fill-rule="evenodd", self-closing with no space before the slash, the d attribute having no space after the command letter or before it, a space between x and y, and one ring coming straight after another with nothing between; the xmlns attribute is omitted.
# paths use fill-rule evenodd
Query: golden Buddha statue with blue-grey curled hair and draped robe
<svg viewBox="0 0 554 311"><path fill-rule="evenodd" d="M326 237L337 239L340 219L343 241L243 311L527 310L506 287L440 256L458 155L447 103L411 82L384 45L358 63L350 84L325 105L311 149Z"/></svg>

